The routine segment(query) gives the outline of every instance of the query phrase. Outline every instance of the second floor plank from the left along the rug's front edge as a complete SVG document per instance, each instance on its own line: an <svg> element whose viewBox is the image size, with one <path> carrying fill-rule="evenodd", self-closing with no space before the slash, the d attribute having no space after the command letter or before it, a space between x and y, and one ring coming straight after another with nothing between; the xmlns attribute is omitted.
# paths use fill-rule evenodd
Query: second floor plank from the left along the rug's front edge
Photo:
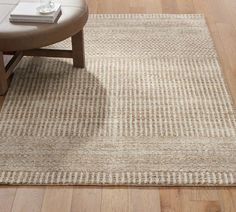
<svg viewBox="0 0 236 212"><path fill-rule="evenodd" d="M18 187L12 212L40 212L45 187Z"/></svg>

